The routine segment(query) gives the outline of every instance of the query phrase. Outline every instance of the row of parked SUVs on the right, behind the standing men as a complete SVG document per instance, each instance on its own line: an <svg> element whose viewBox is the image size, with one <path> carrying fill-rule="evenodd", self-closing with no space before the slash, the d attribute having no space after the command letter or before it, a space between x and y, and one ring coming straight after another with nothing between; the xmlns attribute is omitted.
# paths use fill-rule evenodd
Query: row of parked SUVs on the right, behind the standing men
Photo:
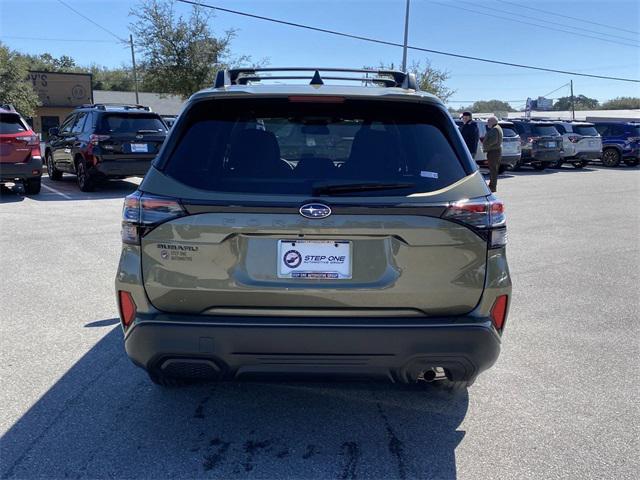
<svg viewBox="0 0 640 480"><path fill-rule="evenodd" d="M482 140L487 131L484 119L474 120L480 139L474 160L485 166L487 156ZM461 120L456 120L460 127ZM524 165L536 170L560 168L571 163L583 168L601 160L606 167L624 162L636 166L640 162L640 123L579 122L559 120L509 119L499 122L504 132L500 172L517 170Z"/></svg>

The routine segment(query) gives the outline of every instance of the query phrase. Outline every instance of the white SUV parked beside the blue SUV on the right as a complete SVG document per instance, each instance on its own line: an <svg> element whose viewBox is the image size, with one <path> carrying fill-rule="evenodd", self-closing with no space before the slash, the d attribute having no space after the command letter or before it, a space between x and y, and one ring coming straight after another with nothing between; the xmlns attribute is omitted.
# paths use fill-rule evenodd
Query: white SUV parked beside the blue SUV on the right
<svg viewBox="0 0 640 480"><path fill-rule="evenodd" d="M602 138L593 123L554 122L553 125L562 135L562 160L554 165L556 168L565 162L582 168L589 160L602 157Z"/></svg>

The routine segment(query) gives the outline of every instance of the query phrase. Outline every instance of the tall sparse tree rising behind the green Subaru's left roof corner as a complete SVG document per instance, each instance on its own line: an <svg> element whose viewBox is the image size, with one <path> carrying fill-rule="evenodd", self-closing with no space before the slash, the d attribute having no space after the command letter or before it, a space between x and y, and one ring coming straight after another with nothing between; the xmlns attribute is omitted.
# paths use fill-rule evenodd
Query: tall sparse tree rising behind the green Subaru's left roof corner
<svg viewBox="0 0 640 480"><path fill-rule="evenodd" d="M175 0L143 0L131 10L131 24L145 89L183 98L213 83L216 69L230 58L234 31L215 37L211 16L199 5L188 18L175 12Z"/></svg>

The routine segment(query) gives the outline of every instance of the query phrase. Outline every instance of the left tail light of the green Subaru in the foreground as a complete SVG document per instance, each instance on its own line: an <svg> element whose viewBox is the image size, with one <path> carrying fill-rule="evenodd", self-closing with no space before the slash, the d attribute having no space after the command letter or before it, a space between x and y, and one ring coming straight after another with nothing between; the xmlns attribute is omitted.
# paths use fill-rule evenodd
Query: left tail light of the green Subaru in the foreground
<svg viewBox="0 0 640 480"><path fill-rule="evenodd" d="M140 238L157 225L186 212L174 198L156 197L136 191L124 199L122 208L122 242L139 245Z"/></svg>

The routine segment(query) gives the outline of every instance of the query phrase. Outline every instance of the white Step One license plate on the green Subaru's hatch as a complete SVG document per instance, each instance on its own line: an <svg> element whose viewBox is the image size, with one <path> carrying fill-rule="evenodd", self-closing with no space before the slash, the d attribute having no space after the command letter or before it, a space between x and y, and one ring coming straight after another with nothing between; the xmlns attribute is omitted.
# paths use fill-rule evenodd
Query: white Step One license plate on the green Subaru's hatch
<svg viewBox="0 0 640 480"><path fill-rule="evenodd" d="M279 240L278 278L348 280L351 278L351 242Z"/></svg>

